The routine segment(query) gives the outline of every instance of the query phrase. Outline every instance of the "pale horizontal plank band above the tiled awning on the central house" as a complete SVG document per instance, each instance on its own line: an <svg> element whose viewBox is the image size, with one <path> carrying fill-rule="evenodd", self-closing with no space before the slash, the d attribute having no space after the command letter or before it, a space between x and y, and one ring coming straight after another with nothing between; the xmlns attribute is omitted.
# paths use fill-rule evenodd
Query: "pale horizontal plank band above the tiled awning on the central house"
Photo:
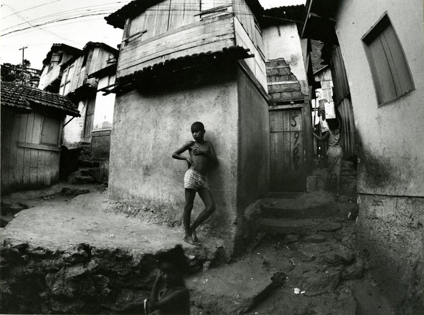
<svg viewBox="0 0 424 315"><path fill-rule="evenodd" d="M232 14L205 19L134 41L121 49L116 77L122 77L166 59L234 46Z"/></svg>

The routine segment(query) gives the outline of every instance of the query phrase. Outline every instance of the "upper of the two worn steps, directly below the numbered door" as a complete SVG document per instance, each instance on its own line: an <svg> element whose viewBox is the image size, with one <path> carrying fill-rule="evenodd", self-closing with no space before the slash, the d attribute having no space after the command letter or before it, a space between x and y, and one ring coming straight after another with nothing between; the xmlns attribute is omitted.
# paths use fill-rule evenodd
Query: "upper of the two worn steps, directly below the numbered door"
<svg viewBox="0 0 424 315"><path fill-rule="evenodd" d="M264 198L262 217L319 218L337 212L334 198L327 192L303 193L295 198Z"/></svg>

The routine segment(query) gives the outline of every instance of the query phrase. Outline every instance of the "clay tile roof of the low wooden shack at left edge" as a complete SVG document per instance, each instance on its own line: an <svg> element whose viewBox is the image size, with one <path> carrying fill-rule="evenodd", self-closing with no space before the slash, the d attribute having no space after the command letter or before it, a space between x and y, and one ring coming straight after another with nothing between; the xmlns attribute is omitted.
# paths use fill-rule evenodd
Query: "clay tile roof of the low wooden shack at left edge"
<svg viewBox="0 0 424 315"><path fill-rule="evenodd" d="M23 113L41 110L74 117L80 116L77 105L62 95L18 85L14 82L1 82L0 88L1 107Z"/></svg>

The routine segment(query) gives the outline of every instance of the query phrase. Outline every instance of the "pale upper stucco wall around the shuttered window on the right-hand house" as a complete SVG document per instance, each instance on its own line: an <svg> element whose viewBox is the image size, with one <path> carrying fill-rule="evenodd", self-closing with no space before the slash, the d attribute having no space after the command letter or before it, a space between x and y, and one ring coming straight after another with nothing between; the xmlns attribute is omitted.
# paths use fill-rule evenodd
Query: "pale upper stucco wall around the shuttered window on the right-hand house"
<svg viewBox="0 0 424 315"><path fill-rule="evenodd" d="M361 38L387 11L415 90L380 108ZM341 1L336 33L350 85L362 152L358 191L424 196L423 1Z"/></svg>

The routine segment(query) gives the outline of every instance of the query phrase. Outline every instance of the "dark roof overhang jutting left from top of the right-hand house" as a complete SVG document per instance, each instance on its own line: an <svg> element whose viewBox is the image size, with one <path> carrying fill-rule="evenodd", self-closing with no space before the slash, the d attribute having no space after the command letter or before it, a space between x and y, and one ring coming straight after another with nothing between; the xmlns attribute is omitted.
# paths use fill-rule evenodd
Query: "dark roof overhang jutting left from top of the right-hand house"
<svg viewBox="0 0 424 315"><path fill-rule="evenodd" d="M308 0L301 37L338 45L334 25L339 0Z"/></svg>

